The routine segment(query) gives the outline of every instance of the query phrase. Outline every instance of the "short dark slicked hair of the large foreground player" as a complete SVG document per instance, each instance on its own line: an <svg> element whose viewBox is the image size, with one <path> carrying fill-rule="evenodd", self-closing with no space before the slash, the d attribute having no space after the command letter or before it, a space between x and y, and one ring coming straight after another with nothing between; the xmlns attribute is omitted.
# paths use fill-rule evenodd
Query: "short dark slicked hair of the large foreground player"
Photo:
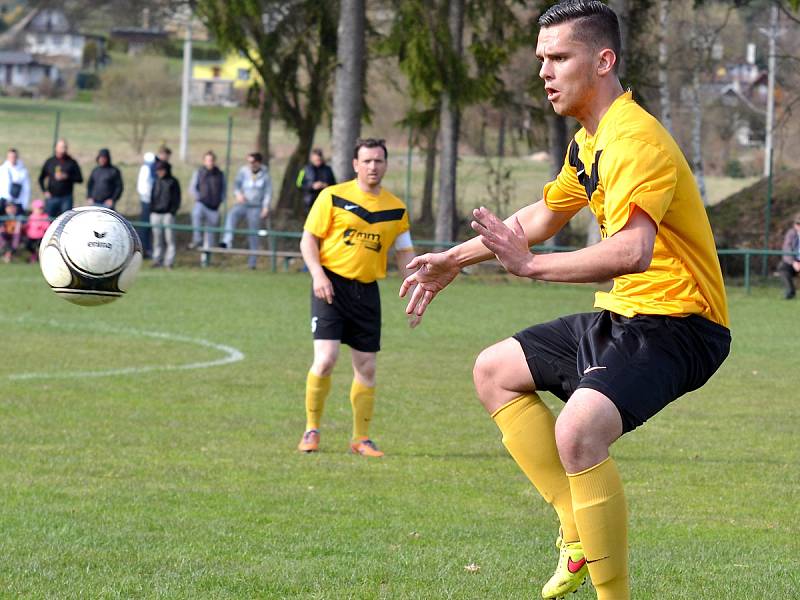
<svg viewBox="0 0 800 600"><path fill-rule="evenodd" d="M541 27L578 21L580 37L593 48L611 48L617 55L614 71L622 61L622 37L614 10L597 0L563 0L548 8L541 17Z"/></svg>

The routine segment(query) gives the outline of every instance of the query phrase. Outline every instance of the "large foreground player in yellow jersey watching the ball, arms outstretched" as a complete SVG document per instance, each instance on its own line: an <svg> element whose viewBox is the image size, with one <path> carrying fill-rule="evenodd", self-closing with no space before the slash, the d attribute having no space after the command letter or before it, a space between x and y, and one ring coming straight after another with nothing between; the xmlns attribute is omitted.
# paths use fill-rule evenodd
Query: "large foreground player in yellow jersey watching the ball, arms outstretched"
<svg viewBox="0 0 800 600"><path fill-rule="evenodd" d="M503 443L559 518L560 558L543 598L561 598L587 571L601 600L630 598L627 509L609 447L679 396L702 386L728 354L725 289L711 228L675 141L617 76L619 23L602 2L561 2L539 19L536 56L556 113L582 128L543 200L505 222L473 212L478 237L408 266L409 314L459 270L494 256L544 281L613 279L599 312L533 326L484 350L478 396ZM532 254L582 207L602 240ZM416 285L414 291L410 291ZM537 392L566 402L554 418Z"/></svg>

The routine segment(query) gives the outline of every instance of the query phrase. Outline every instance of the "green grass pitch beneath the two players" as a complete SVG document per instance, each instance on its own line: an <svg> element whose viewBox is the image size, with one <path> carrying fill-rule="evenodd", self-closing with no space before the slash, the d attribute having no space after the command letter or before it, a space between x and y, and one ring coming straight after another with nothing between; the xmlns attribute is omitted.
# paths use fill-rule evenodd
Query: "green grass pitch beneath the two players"
<svg viewBox="0 0 800 600"><path fill-rule="evenodd" d="M462 278L409 331L397 287L382 285L375 461L345 452L346 351L323 451L294 450L307 276L147 271L88 309L34 266L0 269L0 597L538 597L555 519L472 361L592 291ZM800 322L778 297L734 289L721 371L615 446L637 600L797 597Z"/></svg>

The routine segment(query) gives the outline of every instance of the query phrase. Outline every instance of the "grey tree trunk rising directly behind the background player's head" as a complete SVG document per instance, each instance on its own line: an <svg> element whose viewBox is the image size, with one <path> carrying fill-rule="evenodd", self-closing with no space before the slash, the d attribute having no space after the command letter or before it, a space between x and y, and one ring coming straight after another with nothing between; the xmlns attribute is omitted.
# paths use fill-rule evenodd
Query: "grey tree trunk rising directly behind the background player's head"
<svg viewBox="0 0 800 600"><path fill-rule="evenodd" d="M364 106L365 0L342 0L337 32L336 88L333 95L333 172L337 181L353 177L353 147L361 135Z"/></svg>

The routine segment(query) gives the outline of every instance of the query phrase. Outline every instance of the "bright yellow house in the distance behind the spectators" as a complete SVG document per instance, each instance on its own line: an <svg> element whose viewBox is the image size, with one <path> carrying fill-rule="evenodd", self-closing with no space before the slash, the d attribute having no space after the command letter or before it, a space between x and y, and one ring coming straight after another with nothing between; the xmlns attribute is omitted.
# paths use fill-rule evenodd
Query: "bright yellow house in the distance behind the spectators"
<svg viewBox="0 0 800 600"><path fill-rule="evenodd" d="M195 105L237 106L255 79L258 74L253 65L238 54L217 61L194 61L190 100Z"/></svg>

